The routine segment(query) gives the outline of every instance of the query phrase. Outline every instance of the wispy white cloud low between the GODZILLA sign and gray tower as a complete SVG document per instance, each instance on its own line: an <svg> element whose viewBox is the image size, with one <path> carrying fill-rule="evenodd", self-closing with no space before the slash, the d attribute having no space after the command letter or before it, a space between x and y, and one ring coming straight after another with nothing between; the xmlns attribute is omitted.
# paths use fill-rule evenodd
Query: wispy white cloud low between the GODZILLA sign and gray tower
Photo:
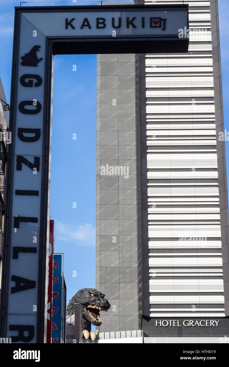
<svg viewBox="0 0 229 367"><path fill-rule="evenodd" d="M55 239L71 242L78 246L94 247L96 244L96 229L90 223L84 225L68 225L54 219Z"/></svg>

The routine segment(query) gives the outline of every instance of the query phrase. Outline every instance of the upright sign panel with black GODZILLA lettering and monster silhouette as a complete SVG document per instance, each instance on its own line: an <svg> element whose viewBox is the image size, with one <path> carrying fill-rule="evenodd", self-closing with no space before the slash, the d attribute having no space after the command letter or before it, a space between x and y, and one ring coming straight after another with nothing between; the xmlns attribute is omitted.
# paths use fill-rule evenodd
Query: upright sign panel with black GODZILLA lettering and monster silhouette
<svg viewBox="0 0 229 367"><path fill-rule="evenodd" d="M39 307L40 201L46 37L21 15L15 88L14 177L7 336L35 343ZM39 57L37 56L39 55Z"/></svg>

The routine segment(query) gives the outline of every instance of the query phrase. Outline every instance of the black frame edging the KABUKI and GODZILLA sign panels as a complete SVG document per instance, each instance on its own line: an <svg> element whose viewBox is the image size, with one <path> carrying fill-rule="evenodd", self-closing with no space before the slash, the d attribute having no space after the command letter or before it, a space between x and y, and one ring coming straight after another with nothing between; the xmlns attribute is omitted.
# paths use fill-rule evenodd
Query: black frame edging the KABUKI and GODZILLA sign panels
<svg viewBox="0 0 229 367"><path fill-rule="evenodd" d="M134 9L133 9L134 8ZM55 7L15 7L14 18L14 42L12 54L12 76L11 76L11 97L10 97L10 123L9 131L12 134L12 141L15 141L16 129L14 126L14 113L17 111L17 91L18 85L18 60L19 60L19 35L21 14L26 12L103 12L103 11L137 11L137 10L186 10L187 29L189 28L188 5L110 5L110 6L55 6ZM83 42L82 42L83 41ZM96 42L95 42L96 41ZM151 50L153 44L153 52ZM110 53L157 53L157 52L187 52L189 39L179 39L178 34L159 36L149 35L144 37L133 37L131 42L125 36L122 37L48 37L46 36L45 52L45 78L44 78L44 101L43 101L43 160L42 160L42 185L40 208L40 243L39 243L39 282L38 282L38 304L37 304L37 343L44 343L46 339L46 269L48 259L46 256L47 243L47 210L49 204L49 162L50 162L50 126L51 126L51 106L53 99L53 66L54 55L56 54L110 54ZM75 49L78 52L75 52ZM14 144L9 146L7 181L6 181L6 218L4 224L4 243L3 243L3 272L2 272L2 292L1 292L1 320L0 335L6 337L7 334L7 308L8 308L8 289L10 271L10 243L12 226L12 196L13 196L13 176L12 155L14 155ZM43 221L42 221L43 218ZM9 245L8 245L9 244ZM6 317L4 317L6 316Z"/></svg>

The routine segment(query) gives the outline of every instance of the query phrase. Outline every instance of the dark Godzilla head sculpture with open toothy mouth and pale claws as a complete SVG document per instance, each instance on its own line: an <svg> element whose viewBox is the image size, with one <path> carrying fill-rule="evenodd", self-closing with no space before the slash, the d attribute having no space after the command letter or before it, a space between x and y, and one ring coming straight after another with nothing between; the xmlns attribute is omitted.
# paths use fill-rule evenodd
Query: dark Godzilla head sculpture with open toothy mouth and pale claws
<svg viewBox="0 0 229 367"><path fill-rule="evenodd" d="M91 339L95 339L96 334L94 335L94 332L90 333L91 324L100 326L102 323L100 319L100 311L107 312L111 306L107 299L104 299L104 297L105 294L101 293L95 288L82 288L69 301L66 309L67 316L74 313L75 303L78 303L81 306L82 331L83 336L86 339L88 339L89 336L91 336ZM91 335L89 335L89 333Z"/></svg>

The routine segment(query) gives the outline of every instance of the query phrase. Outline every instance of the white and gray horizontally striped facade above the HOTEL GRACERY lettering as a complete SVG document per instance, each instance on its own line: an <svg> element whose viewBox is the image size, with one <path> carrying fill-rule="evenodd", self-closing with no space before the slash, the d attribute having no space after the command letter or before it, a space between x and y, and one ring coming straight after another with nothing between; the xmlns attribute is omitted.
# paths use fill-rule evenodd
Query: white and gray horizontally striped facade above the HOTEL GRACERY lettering
<svg viewBox="0 0 229 367"><path fill-rule="evenodd" d="M145 1L179 3L189 54L146 55L150 316L223 317L210 1Z"/></svg>

